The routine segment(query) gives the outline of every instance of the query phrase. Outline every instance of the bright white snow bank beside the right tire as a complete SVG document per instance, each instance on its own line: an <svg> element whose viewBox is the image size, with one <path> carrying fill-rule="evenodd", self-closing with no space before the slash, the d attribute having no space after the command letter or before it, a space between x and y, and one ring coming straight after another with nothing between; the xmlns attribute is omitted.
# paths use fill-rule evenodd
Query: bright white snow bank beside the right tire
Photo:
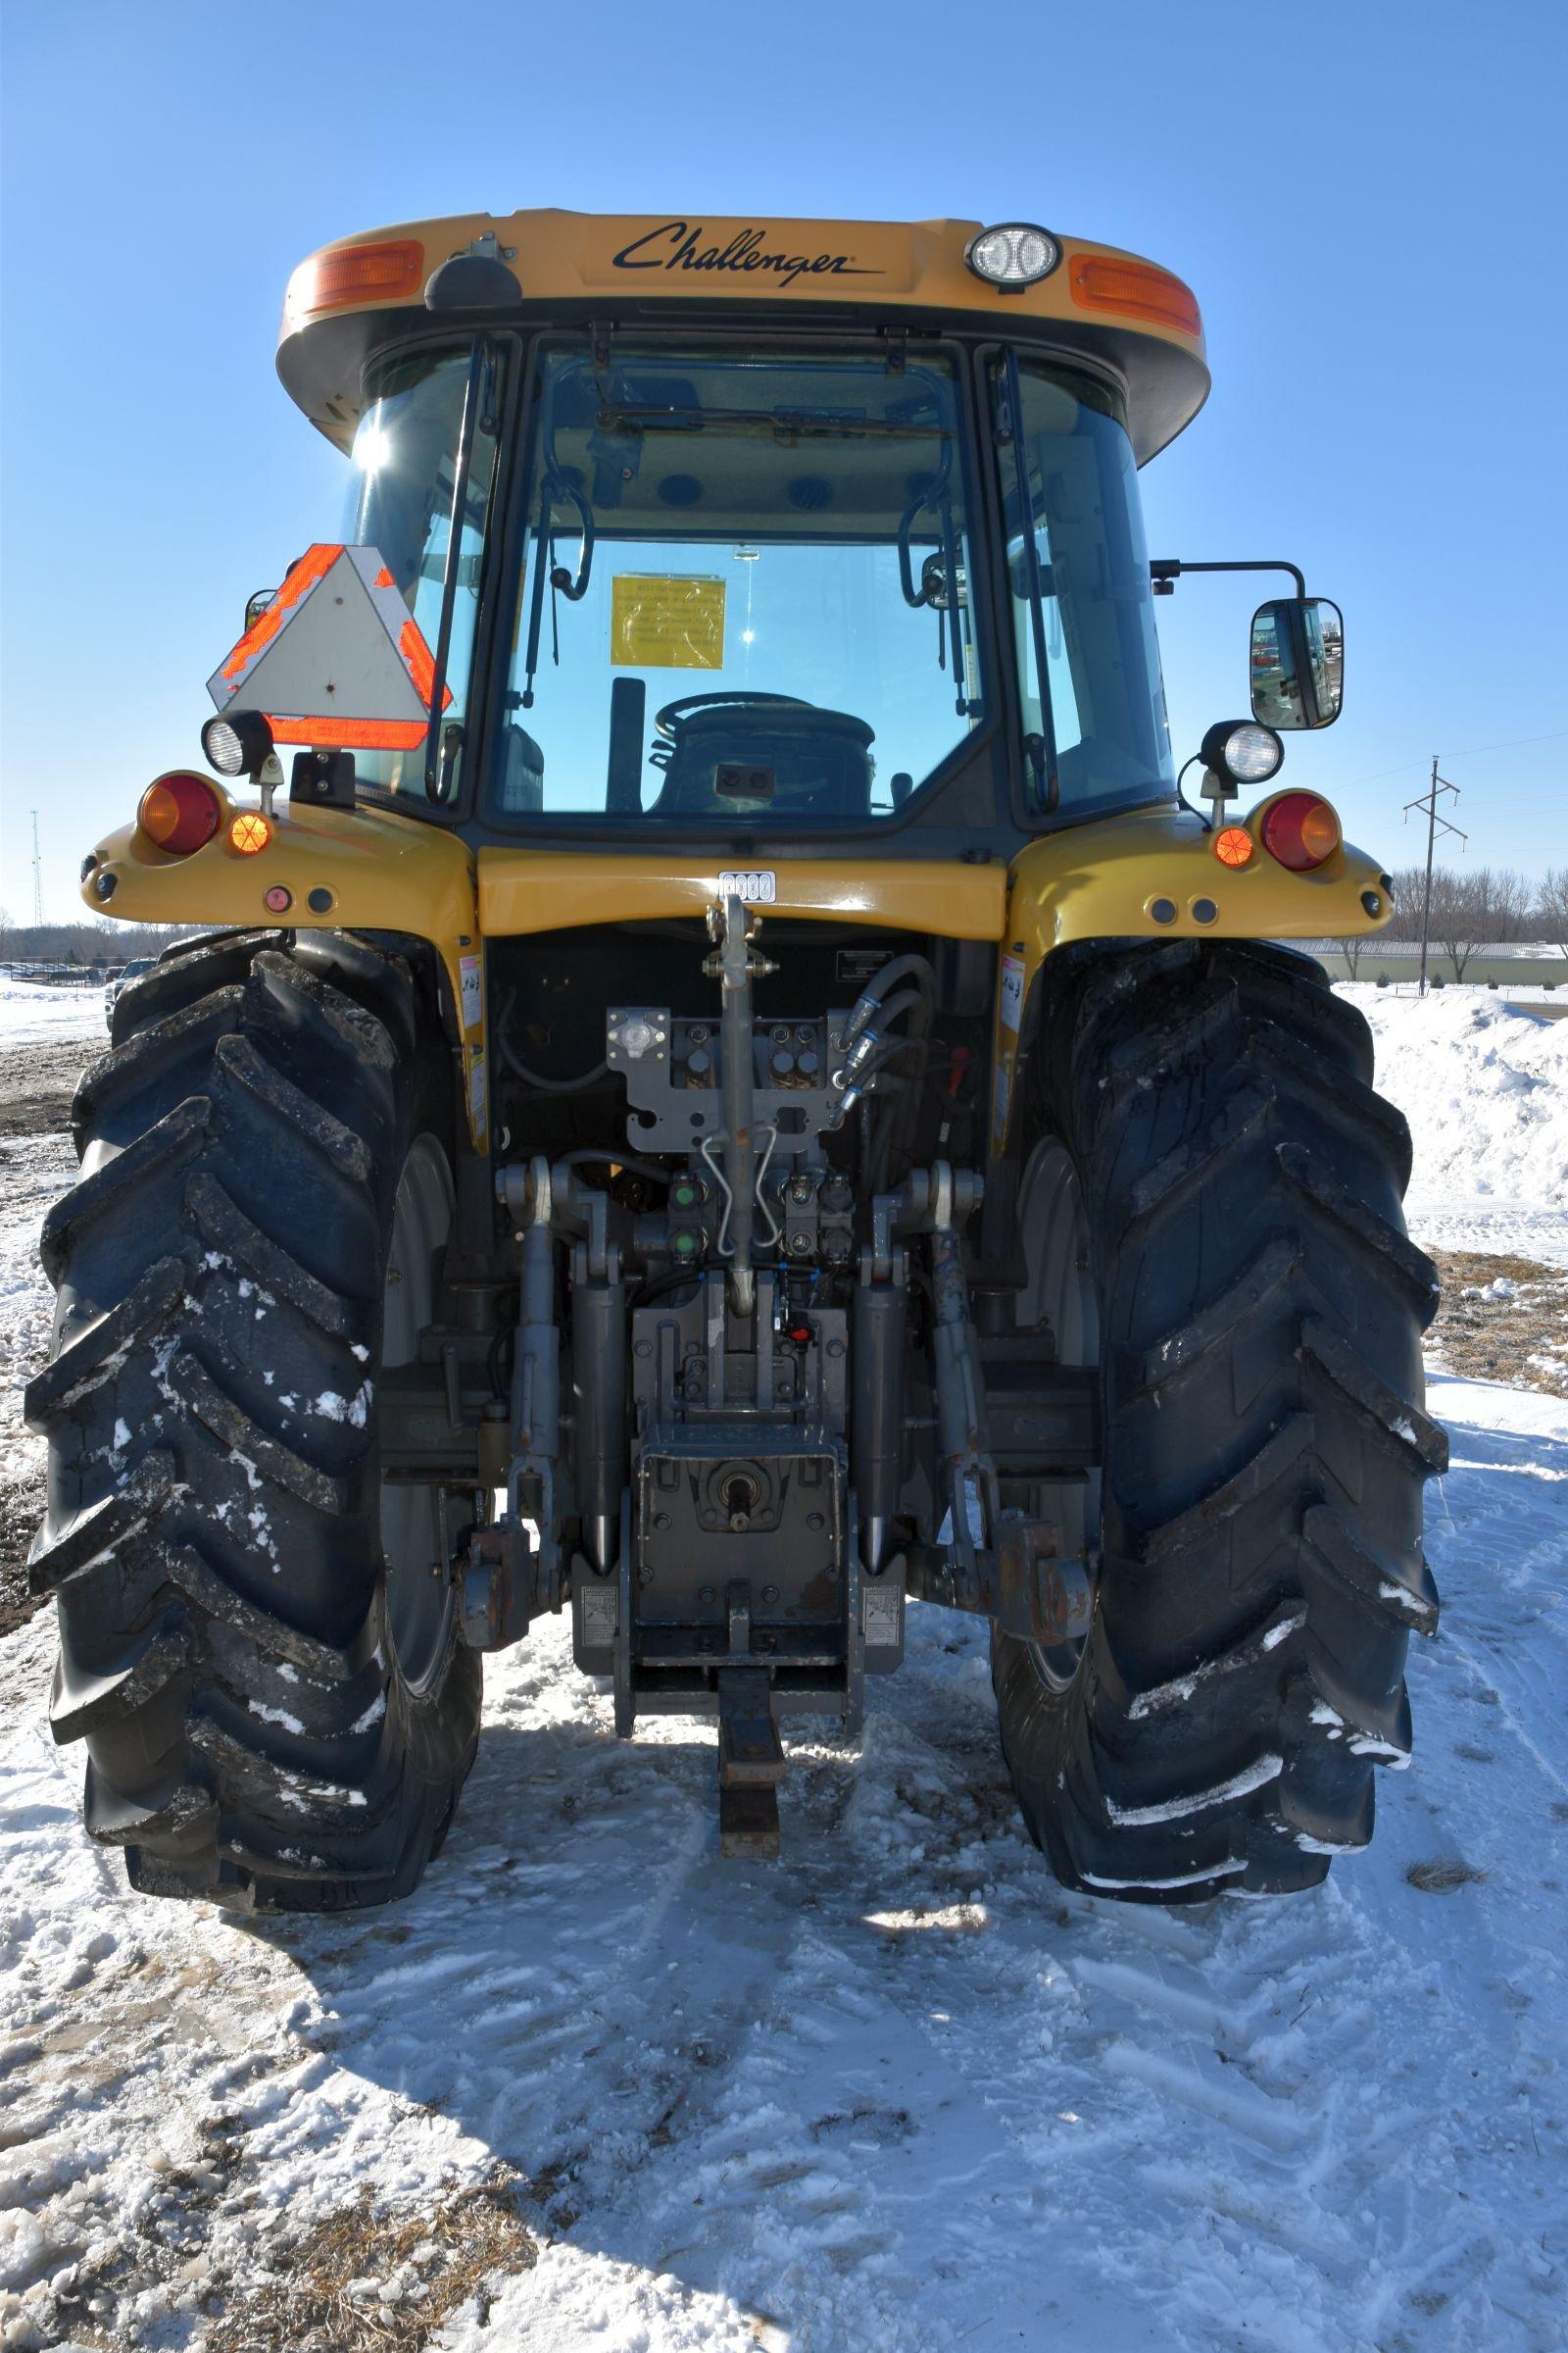
<svg viewBox="0 0 1568 2353"><path fill-rule="evenodd" d="M1410 1122L1410 1231L1568 1264L1568 1021L1486 988L1340 995L1371 1021L1378 1087Z"/></svg>

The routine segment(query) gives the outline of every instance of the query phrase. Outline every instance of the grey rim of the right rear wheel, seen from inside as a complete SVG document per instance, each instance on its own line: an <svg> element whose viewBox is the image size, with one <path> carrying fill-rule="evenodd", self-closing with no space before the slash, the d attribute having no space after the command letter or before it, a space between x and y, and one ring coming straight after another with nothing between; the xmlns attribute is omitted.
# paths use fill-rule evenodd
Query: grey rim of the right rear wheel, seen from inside
<svg viewBox="0 0 1568 2353"><path fill-rule="evenodd" d="M1100 1301L1088 1261L1084 1188L1065 1144L1034 1146L1018 1188L1027 1282L1018 1297L1018 1325L1048 1322L1060 1365L1100 1362ZM1100 1544L1100 1473L1058 1487L1063 1553L1088 1558ZM1088 1635L1070 1642L1030 1642L1034 1673L1051 1692L1065 1692L1079 1673Z"/></svg>

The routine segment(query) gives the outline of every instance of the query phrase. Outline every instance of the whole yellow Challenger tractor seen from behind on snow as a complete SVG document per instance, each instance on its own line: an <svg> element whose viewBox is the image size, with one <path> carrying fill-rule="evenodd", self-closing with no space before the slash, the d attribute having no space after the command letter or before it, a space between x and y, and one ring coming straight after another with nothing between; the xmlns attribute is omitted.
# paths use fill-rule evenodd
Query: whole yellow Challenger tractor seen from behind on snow
<svg viewBox="0 0 1568 2353"><path fill-rule="evenodd" d="M1389 920L1279 784L1340 614L1145 551L1190 289L1023 221L520 212L324 247L277 365L341 539L82 868L209 927L122 991L42 1238L92 1835L402 1897L482 1652L569 1609L771 1854L780 1722L853 1732L922 1600L990 1621L1060 1880L1321 1880L1436 1619L1434 1278L1281 946ZM1204 569L1288 593L1178 772Z"/></svg>

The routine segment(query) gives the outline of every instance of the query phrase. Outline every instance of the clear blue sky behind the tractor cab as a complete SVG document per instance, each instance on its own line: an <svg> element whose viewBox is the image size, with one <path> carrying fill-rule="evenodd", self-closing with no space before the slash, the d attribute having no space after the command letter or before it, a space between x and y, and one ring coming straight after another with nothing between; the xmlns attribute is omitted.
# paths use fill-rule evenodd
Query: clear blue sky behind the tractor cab
<svg viewBox="0 0 1568 2353"><path fill-rule="evenodd" d="M1415 856L1568 864L1561 0L790 9L386 0L5 12L0 904L49 915L197 758L244 598L334 536L273 374L327 238L470 207L1037 219L1197 289L1215 391L1143 475L1157 555L1288 555L1347 708L1286 779ZM1159 605L1178 758L1244 706L1253 588Z"/></svg>

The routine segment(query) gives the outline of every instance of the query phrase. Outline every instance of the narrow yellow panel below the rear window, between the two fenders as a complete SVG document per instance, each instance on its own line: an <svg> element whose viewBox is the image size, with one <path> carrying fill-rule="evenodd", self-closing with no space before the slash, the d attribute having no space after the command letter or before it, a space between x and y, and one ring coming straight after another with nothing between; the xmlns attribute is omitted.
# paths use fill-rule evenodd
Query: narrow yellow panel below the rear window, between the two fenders
<svg viewBox="0 0 1568 2353"><path fill-rule="evenodd" d="M762 864L762 861L759 861ZM1006 871L959 861L788 859L769 868L769 915L867 922L940 939L1001 939ZM701 915L719 899L719 866L679 868L670 856L602 849L480 849L480 925L487 936L564 932L588 922Z"/></svg>

